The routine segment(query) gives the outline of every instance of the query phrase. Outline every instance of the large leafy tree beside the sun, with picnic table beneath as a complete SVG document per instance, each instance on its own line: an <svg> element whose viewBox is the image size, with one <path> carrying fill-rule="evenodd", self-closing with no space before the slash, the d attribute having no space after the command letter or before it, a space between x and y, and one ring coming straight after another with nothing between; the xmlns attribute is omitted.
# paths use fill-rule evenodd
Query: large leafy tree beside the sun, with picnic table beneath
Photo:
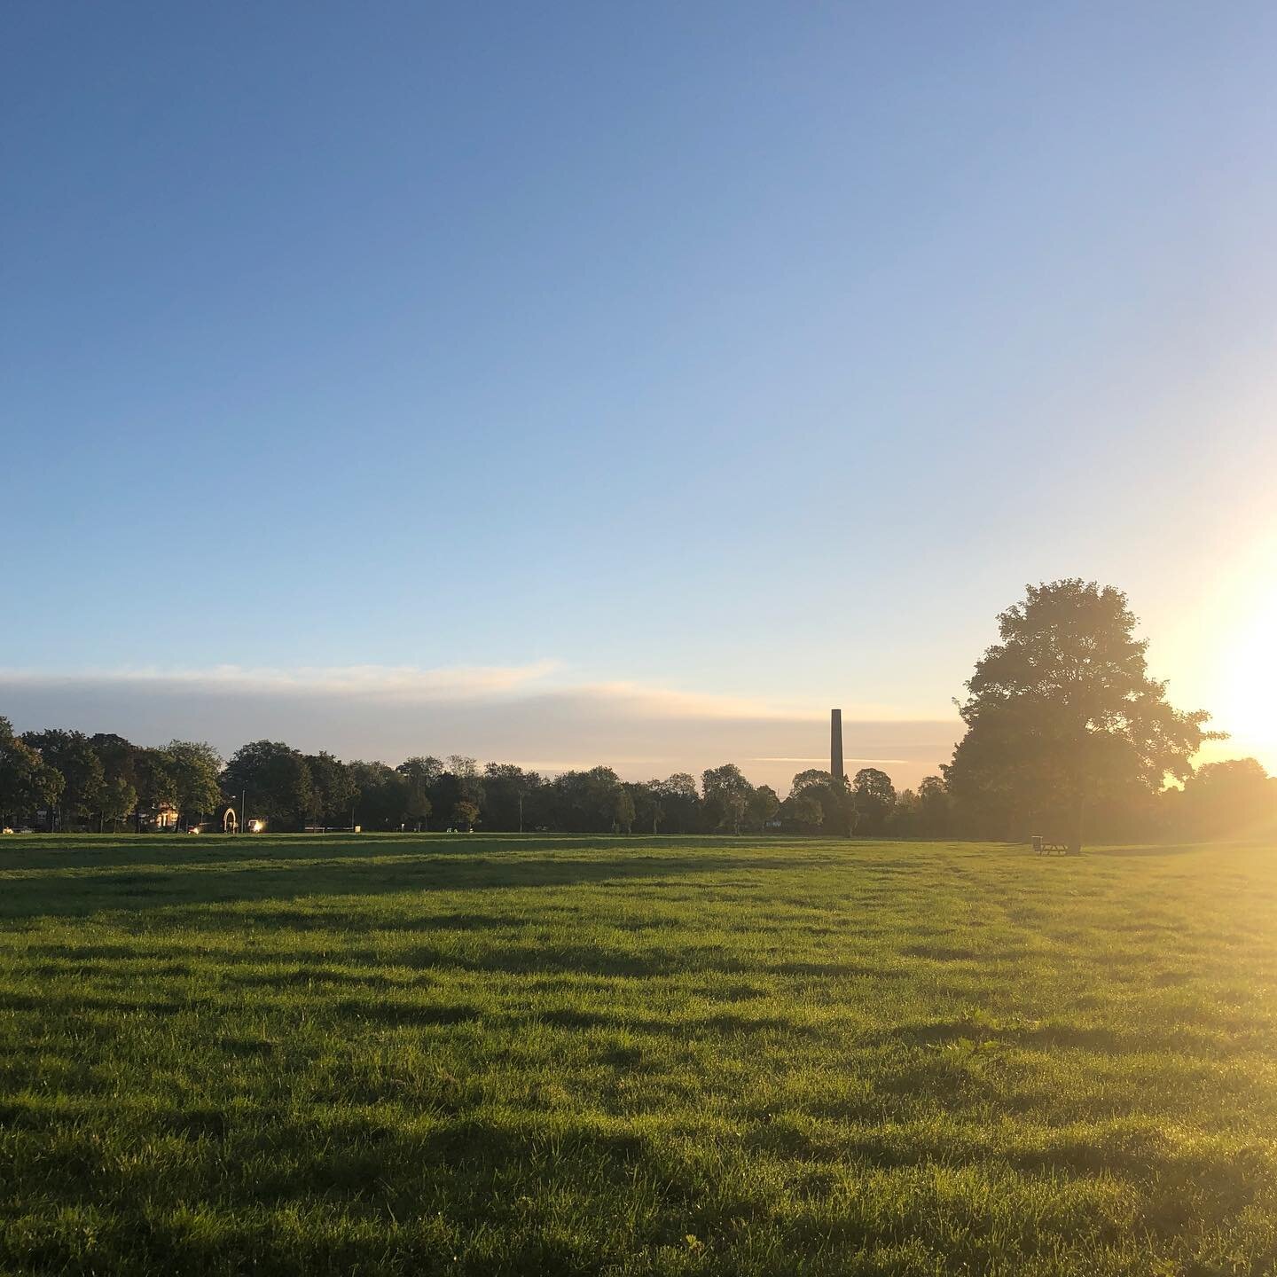
<svg viewBox="0 0 1277 1277"><path fill-rule="evenodd" d="M959 705L967 734L942 769L981 831L1066 835L1079 852L1088 806L1191 775L1218 733L1204 710L1167 702L1135 624L1120 590L1077 578L1028 586L997 618L1000 642Z"/></svg>

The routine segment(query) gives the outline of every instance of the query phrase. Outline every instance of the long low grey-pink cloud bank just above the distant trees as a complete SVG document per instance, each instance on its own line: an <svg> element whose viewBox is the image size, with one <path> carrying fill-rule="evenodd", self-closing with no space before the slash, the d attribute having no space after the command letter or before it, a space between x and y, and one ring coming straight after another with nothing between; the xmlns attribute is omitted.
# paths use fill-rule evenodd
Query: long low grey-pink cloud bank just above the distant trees
<svg viewBox="0 0 1277 1277"><path fill-rule="evenodd" d="M142 743L212 741L223 753L269 737L301 750L397 762L469 753L541 771L607 764L627 779L741 762L756 783L788 787L825 765L822 705L575 678L561 663L204 669L0 669L0 714L19 729L77 727ZM955 722L850 711L850 762L913 784L948 756ZM808 751L808 752L801 752Z"/></svg>

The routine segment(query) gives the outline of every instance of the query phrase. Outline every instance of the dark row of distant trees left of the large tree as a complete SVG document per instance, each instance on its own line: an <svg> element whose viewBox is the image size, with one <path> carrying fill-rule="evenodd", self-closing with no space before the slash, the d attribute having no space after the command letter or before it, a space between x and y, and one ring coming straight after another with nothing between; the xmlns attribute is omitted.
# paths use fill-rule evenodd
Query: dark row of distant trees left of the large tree
<svg viewBox="0 0 1277 1277"><path fill-rule="evenodd" d="M163 815L198 827L226 807L240 820L285 833L305 829L484 829L580 834L882 833L895 806L890 778L866 769L834 785L802 771L784 801L753 785L734 764L697 780L626 782L612 767L544 776L513 762L450 755L397 766L304 753L253 741L222 760L207 743L160 748L120 736L46 729L15 734L0 718L0 819L13 827L119 831L152 827Z"/></svg>

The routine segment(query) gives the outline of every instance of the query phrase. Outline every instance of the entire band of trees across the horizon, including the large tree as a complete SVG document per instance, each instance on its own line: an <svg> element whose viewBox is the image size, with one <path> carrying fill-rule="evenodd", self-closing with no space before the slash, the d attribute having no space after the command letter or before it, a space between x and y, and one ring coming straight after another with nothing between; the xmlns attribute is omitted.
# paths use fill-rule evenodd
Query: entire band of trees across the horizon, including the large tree
<svg viewBox="0 0 1277 1277"><path fill-rule="evenodd" d="M958 709L965 734L941 775L896 792L866 767L799 771L789 794L734 764L626 782L607 766L544 776L512 762L421 756L344 762L278 741L229 760L197 741L14 733L0 718L0 824L63 831L198 827L226 807L273 831L304 829L1202 839L1277 830L1277 779L1254 759L1194 767L1222 738L1148 674L1126 596L1094 582L1027 587L999 617Z"/></svg>

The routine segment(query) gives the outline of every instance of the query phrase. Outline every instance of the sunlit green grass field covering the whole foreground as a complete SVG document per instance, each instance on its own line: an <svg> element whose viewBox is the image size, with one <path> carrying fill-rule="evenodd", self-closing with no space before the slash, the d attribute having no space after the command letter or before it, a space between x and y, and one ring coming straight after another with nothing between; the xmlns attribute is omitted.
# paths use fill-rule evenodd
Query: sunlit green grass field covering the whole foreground
<svg viewBox="0 0 1277 1277"><path fill-rule="evenodd" d="M0 842L0 1271L1277 1268L1277 849Z"/></svg>

